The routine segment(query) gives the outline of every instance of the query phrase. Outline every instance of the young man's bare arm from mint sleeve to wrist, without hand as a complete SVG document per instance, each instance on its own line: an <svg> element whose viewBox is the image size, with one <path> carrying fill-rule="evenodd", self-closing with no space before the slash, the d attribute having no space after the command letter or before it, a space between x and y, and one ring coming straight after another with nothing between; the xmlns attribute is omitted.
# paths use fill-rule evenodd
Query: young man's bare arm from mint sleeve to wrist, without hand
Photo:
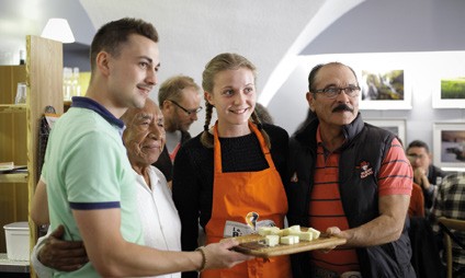
<svg viewBox="0 0 465 278"><path fill-rule="evenodd" d="M200 252L166 252L125 241L120 210L73 210L87 254L101 276L157 276L190 271L202 264Z"/></svg>

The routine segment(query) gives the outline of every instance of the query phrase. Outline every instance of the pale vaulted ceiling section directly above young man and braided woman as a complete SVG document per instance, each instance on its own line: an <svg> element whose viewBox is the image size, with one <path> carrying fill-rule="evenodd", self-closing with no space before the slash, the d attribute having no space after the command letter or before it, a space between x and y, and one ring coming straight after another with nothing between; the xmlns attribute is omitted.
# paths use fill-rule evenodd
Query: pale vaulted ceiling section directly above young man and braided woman
<svg viewBox="0 0 465 278"><path fill-rule="evenodd" d="M201 83L205 63L219 53L249 58L259 70L259 91L288 55L297 55L338 15L360 0L81 0L92 24L123 16L141 18L160 33L160 80L188 74ZM316 22L320 13L333 20ZM311 32L308 32L311 30ZM305 34L305 36L302 36ZM275 81L274 81L275 82Z"/></svg>

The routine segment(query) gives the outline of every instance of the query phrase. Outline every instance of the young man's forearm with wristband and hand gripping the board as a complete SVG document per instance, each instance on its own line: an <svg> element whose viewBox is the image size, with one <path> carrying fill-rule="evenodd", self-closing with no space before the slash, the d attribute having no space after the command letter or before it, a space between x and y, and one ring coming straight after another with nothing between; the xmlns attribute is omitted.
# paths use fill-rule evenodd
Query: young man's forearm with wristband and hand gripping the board
<svg viewBox="0 0 465 278"><path fill-rule="evenodd" d="M230 251L234 240L209 244L202 251L159 251L124 240L105 242L92 248L90 255L95 269L102 276L159 276L203 269L229 268L252 257ZM106 245L107 247L103 247ZM97 252L95 252L97 251Z"/></svg>

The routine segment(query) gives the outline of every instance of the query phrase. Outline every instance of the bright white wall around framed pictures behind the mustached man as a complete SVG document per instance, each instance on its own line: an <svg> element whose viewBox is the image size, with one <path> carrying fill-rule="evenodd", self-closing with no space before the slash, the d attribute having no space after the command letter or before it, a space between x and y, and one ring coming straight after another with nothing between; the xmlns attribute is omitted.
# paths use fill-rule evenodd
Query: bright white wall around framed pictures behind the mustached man
<svg viewBox="0 0 465 278"><path fill-rule="evenodd" d="M279 126L290 134L303 121L308 109L305 93L308 73L320 62L341 61L356 72L363 69L404 69L406 95L410 93L411 108L362 109L364 118L405 119L406 142L426 141L433 150L433 124L454 121L465 124L465 105L461 108L433 108L433 97L440 93L441 77L465 77L465 51L347 54L303 56L295 70L269 104ZM360 78L359 78L360 80ZM408 101L408 100L407 100Z"/></svg>

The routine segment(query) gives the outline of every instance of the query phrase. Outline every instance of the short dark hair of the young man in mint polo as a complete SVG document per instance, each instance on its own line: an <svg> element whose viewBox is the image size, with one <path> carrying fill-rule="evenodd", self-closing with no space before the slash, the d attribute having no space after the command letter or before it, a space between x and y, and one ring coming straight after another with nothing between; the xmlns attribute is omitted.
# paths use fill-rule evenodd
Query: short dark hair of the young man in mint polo
<svg viewBox="0 0 465 278"><path fill-rule="evenodd" d="M90 46L91 71L95 69L97 55L107 51L112 56L120 55L120 46L129 39L129 35L137 34L158 43L157 30L151 23L143 20L124 18L112 21L100 27Z"/></svg>

